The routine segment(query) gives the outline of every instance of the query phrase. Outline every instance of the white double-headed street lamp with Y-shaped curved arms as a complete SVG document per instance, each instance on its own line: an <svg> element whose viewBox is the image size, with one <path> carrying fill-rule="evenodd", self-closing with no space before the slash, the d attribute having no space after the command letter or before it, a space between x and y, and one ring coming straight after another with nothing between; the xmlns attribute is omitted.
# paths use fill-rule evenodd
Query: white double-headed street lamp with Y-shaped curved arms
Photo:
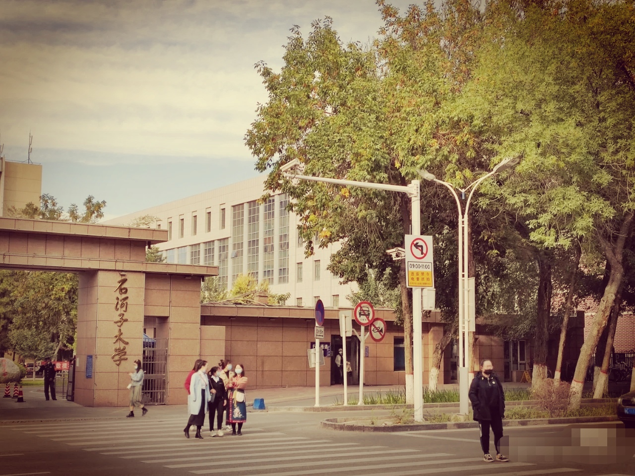
<svg viewBox="0 0 635 476"><path fill-rule="evenodd" d="M481 183L487 178L500 173L506 169L510 169L520 161L519 157L503 159L494 169L475 180L465 188L455 188L451 183L439 180L436 176L428 171L419 171L419 175L429 182L436 182L444 185L450 190L458 209L458 392L459 392L459 413L467 415L469 413L469 399L467 396L469 389L468 373L469 373L469 356L471 352L471 343L469 341L469 331L474 330L476 323L474 322L475 313L474 305L471 305L470 298L476 300L476 289L469 284L469 242L467 234L468 218L470 202L472 196ZM471 190L470 190L471 189ZM465 210L462 211L461 201L458 198L457 190L461 192L465 199L465 192L470 191L467 201L465 202ZM470 295L472 293L472 296ZM473 301L472 301L473 302Z"/></svg>

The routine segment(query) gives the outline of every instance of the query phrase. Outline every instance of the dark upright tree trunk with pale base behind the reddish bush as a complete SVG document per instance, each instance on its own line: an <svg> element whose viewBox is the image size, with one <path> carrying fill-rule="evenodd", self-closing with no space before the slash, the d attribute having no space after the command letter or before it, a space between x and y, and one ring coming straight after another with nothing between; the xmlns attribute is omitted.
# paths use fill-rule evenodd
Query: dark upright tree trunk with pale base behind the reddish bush
<svg viewBox="0 0 635 476"><path fill-rule="evenodd" d="M547 326L551 315L551 263L553 256L547 251L538 251L538 302L536 334L534 338L533 374L531 387L535 388L547 378Z"/></svg>

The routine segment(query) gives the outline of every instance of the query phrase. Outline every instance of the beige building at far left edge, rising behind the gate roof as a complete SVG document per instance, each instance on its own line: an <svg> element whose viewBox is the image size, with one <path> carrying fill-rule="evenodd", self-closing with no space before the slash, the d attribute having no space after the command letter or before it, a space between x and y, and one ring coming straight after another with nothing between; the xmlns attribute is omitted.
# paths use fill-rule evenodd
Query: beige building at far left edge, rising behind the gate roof
<svg viewBox="0 0 635 476"><path fill-rule="evenodd" d="M0 210L7 216L8 210L24 208L33 202L39 206L42 195L42 166L0 159Z"/></svg>

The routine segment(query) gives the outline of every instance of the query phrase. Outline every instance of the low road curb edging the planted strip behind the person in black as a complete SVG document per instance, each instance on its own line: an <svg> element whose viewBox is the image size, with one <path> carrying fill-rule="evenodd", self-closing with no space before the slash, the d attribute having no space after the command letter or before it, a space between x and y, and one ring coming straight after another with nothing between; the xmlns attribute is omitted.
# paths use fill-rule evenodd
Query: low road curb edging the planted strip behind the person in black
<svg viewBox="0 0 635 476"><path fill-rule="evenodd" d="M368 420L368 419L366 419ZM356 425L359 418L327 418L320 422L321 428L339 430L343 432L420 432L422 430L457 430L460 428L478 428L476 421L462 421L456 423L409 423L407 425ZM617 415L585 416L569 418L536 418L534 420L503 420L503 426L538 426L538 425L575 425L577 423L601 423L603 421L619 421Z"/></svg>

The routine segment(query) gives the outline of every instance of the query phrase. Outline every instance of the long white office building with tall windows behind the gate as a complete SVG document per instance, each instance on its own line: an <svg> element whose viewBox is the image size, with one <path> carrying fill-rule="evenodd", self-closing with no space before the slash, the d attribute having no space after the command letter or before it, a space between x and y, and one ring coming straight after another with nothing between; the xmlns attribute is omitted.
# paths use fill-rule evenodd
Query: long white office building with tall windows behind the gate
<svg viewBox="0 0 635 476"><path fill-rule="evenodd" d="M286 194L275 194L264 204L265 176L139 210L105 221L130 225L141 216L156 216L156 227L168 230L168 241L158 245L168 263L218 266L223 286L231 289L238 275L251 274L269 281L272 293L290 293L286 305L350 306L347 296L355 283L340 284L326 269L338 244L306 258L298 235L297 216L286 210Z"/></svg>

